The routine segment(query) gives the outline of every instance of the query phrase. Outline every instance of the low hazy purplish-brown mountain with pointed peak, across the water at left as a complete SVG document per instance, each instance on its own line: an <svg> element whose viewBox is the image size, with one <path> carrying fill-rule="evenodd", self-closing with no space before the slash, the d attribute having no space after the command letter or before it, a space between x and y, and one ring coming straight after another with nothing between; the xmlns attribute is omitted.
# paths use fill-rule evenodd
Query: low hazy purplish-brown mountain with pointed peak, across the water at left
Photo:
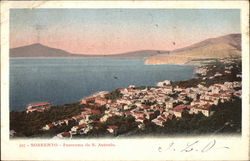
<svg viewBox="0 0 250 161"><path fill-rule="evenodd" d="M142 50L113 55L74 54L61 49L51 48L39 43L10 49L10 57L99 57L99 58L144 58L166 53L161 50Z"/></svg>

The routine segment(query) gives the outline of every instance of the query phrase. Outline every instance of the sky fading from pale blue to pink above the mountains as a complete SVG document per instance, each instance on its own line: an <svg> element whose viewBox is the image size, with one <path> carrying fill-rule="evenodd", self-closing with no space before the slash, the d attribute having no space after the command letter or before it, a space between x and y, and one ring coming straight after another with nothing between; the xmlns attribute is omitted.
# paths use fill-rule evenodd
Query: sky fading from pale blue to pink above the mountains
<svg viewBox="0 0 250 161"><path fill-rule="evenodd" d="M10 11L11 48L41 43L76 54L117 54L174 50L231 33L240 33L238 9Z"/></svg>

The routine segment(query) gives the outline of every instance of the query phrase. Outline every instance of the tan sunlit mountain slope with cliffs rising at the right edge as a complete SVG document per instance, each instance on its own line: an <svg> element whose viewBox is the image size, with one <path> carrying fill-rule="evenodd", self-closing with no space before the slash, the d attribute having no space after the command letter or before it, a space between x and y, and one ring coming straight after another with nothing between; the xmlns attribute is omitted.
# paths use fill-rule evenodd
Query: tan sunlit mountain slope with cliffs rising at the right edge
<svg viewBox="0 0 250 161"><path fill-rule="evenodd" d="M230 34L210 38L185 48L154 55L145 64L190 64L197 59L218 59L241 56L241 35Z"/></svg>

